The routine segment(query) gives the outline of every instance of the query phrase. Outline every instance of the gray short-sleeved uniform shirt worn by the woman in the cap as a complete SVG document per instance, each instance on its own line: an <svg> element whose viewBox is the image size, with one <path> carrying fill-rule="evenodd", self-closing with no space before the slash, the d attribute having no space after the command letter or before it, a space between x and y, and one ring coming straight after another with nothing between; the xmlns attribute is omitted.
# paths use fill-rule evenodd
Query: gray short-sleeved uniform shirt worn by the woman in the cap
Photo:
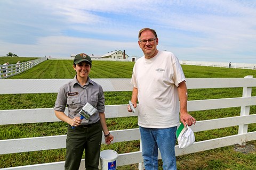
<svg viewBox="0 0 256 170"><path fill-rule="evenodd" d="M100 84L92 81L89 77L85 86L81 86L75 78L64 84L58 92L54 110L64 112L68 107L68 117L80 117L78 114L86 103L90 103L98 112L93 114L89 121L83 119L81 125L96 123L100 120L99 113L105 112L105 97Z"/></svg>

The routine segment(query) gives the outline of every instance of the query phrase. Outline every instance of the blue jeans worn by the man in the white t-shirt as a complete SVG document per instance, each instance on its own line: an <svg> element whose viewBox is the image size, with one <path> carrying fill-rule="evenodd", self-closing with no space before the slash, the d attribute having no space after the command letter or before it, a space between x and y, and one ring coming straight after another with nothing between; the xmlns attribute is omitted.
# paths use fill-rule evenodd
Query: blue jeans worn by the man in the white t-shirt
<svg viewBox="0 0 256 170"><path fill-rule="evenodd" d="M177 126L166 129L142 128L140 126L142 156L146 170L158 169L158 148L163 160L163 169L177 169L174 149L176 130Z"/></svg>

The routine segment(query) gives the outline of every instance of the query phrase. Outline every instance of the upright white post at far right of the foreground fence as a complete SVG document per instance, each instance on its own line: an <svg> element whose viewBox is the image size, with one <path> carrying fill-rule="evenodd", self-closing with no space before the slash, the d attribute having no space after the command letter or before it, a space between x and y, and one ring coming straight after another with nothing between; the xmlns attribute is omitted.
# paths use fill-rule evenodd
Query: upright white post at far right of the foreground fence
<svg viewBox="0 0 256 170"><path fill-rule="evenodd" d="M245 79L252 79L252 75L247 75L244 77ZM251 97L252 96L252 87L244 87L243 88L243 97ZM245 116L250 114L250 106L241 106L240 116ZM247 133L248 124L239 125L238 134ZM246 142L238 143L239 145L245 146Z"/></svg>

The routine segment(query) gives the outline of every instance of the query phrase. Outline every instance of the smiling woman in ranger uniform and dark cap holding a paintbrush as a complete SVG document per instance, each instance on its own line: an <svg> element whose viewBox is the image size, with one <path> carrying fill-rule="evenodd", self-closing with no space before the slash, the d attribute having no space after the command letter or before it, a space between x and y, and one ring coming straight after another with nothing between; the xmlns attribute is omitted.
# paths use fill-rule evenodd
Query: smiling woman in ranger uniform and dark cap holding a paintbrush
<svg viewBox="0 0 256 170"><path fill-rule="evenodd" d="M102 87L89 78L91 66L92 60L89 55L77 54L73 64L76 76L59 89L55 102L55 115L61 121L69 124L65 169L79 169L84 150L86 170L99 169L102 131L108 145L114 139L106 125L105 97ZM78 112L86 103L96 108L97 112L89 120L81 120ZM64 113L66 106L68 107L68 116Z"/></svg>

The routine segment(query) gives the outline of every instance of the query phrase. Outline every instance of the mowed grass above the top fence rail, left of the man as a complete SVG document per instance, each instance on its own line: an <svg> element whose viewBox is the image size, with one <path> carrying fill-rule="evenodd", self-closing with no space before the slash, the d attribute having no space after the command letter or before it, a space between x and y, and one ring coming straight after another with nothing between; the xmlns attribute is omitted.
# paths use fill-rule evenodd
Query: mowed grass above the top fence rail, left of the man
<svg viewBox="0 0 256 170"><path fill-rule="evenodd" d="M90 78L131 78L133 64L130 62L93 61ZM73 61L47 60L10 79L72 79L75 74Z"/></svg>

